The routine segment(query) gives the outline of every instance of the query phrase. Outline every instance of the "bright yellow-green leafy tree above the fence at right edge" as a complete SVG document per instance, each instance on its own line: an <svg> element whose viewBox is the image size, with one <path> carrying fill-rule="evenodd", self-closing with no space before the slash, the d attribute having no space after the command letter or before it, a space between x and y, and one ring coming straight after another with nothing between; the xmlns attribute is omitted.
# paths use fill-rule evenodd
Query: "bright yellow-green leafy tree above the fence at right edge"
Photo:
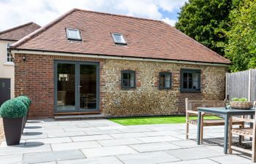
<svg viewBox="0 0 256 164"><path fill-rule="evenodd" d="M241 1L230 12L225 55L232 61L231 71L256 68L256 0Z"/></svg>

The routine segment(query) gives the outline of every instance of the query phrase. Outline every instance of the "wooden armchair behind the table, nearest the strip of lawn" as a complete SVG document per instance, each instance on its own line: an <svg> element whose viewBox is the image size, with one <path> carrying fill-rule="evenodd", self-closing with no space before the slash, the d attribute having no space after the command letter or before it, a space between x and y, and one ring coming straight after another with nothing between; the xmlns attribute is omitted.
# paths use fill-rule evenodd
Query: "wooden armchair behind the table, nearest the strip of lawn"
<svg viewBox="0 0 256 164"><path fill-rule="evenodd" d="M197 125L197 120L190 120L189 116L197 116L197 107L223 107L225 106L225 101L218 100L189 100L185 99L186 102L186 139L189 138L189 124ZM204 126L217 126L225 125L225 120L219 118L217 120L204 120L203 116L210 115L202 113L202 122L201 122L201 136L200 141L203 141L203 127ZM211 116L213 116L211 114ZM244 122L242 121L233 121L233 125L243 126Z"/></svg>

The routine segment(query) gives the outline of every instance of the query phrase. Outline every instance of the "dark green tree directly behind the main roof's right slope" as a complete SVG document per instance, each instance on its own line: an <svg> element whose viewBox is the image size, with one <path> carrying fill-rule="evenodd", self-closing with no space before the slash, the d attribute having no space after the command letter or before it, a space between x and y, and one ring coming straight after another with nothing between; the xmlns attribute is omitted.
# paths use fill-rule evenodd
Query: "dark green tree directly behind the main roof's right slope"
<svg viewBox="0 0 256 164"><path fill-rule="evenodd" d="M238 0L189 0L178 13L176 28L206 47L224 55L230 10Z"/></svg>

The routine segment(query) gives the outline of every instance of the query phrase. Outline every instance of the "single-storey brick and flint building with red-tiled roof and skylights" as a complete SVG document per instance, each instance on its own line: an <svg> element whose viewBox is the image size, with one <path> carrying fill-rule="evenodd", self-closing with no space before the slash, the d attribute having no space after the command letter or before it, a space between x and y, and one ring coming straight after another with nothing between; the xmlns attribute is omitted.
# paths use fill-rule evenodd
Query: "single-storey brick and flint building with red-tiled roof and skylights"
<svg viewBox="0 0 256 164"><path fill-rule="evenodd" d="M159 20L72 9L12 44L30 117L183 113L223 99L230 61Z"/></svg>

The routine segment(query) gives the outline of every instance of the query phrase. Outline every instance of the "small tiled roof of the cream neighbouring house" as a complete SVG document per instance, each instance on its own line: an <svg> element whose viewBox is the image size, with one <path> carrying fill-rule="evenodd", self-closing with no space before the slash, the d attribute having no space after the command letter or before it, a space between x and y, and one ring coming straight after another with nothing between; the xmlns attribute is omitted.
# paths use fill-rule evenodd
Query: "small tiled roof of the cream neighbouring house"
<svg viewBox="0 0 256 164"><path fill-rule="evenodd" d="M18 41L24 36L31 34L31 32L36 31L38 28L41 28L41 26L34 22L30 22L5 31L0 31L0 40Z"/></svg>

